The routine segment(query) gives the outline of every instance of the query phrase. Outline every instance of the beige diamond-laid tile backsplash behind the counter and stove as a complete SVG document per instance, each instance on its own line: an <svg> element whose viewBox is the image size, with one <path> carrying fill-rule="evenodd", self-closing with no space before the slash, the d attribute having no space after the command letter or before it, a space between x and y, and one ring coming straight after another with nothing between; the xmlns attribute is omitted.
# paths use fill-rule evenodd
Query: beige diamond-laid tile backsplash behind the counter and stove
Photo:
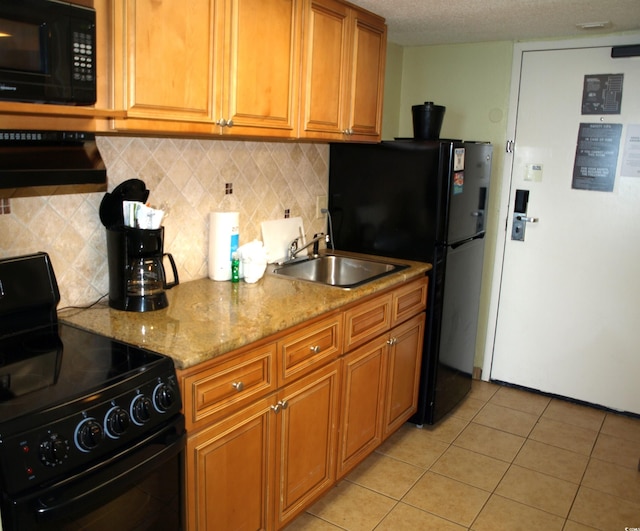
<svg viewBox="0 0 640 531"><path fill-rule="evenodd" d="M324 230L316 197L327 194L326 144L101 136L108 190L141 179L149 202L167 206L165 252L180 281L207 276L209 212L240 212L240 244L261 239L260 222L290 215L307 235ZM231 191L231 193L229 193ZM109 291L104 193L11 199L0 215L0 257L46 251L60 288L59 307L90 304Z"/></svg>

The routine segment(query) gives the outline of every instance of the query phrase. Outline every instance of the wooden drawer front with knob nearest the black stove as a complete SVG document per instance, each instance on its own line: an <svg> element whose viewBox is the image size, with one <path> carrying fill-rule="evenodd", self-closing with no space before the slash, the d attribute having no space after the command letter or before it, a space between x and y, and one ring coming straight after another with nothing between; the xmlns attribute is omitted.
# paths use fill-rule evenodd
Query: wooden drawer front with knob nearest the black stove
<svg viewBox="0 0 640 531"><path fill-rule="evenodd" d="M269 343L187 376L183 380L187 429L213 422L276 389L276 344Z"/></svg>

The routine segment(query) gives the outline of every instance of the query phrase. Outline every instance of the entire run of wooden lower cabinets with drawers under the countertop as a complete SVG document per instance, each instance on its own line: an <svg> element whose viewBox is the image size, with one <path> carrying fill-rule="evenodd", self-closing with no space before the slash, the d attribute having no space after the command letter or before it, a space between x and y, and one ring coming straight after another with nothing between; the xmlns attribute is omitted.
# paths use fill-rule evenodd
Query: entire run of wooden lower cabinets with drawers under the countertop
<svg viewBox="0 0 640 531"><path fill-rule="evenodd" d="M283 528L413 415L427 286L179 372L188 531Z"/></svg>

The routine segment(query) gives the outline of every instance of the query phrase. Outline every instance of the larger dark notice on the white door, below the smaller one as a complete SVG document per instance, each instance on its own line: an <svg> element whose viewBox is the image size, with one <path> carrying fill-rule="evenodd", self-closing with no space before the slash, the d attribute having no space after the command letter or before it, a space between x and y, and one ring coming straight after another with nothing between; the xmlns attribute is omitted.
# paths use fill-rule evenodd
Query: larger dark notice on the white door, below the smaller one
<svg viewBox="0 0 640 531"><path fill-rule="evenodd" d="M580 124L571 187L612 192L622 124Z"/></svg>

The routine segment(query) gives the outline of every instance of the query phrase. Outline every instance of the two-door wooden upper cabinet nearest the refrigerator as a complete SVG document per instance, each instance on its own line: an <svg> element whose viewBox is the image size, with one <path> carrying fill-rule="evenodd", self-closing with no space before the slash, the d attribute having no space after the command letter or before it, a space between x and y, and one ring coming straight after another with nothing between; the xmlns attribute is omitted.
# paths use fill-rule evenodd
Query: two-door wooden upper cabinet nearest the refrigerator
<svg viewBox="0 0 640 531"><path fill-rule="evenodd" d="M386 25L336 0L306 0L300 137L379 141Z"/></svg>

